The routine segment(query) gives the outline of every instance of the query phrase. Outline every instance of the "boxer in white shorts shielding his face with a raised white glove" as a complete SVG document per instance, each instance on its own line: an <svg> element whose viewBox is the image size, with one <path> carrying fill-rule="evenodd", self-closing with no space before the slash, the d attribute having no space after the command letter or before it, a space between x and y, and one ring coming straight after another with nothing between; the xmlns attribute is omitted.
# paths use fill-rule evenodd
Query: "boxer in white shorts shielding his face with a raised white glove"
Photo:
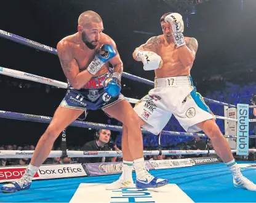
<svg viewBox="0 0 256 203"><path fill-rule="evenodd" d="M142 61L145 71L154 70L154 89L134 107L141 118L142 128L159 134L172 114L187 132L204 131L212 141L217 155L222 158L231 174L234 186L256 191L256 185L241 174L234 161L230 146L215 123L214 115L196 92L190 71L198 50L198 42L183 36L184 23L179 13L165 13L160 19L163 34L151 37L136 48L133 57ZM132 183L132 161L127 142L128 130L123 126L123 170L121 177L107 186L108 190L125 188Z"/></svg>

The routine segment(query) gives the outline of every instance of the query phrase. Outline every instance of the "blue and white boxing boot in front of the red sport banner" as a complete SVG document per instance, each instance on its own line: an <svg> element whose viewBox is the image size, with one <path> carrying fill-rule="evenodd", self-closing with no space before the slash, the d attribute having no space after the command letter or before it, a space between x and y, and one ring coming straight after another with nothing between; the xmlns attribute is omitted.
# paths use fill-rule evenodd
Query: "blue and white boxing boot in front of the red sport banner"
<svg viewBox="0 0 256 203"><path fill-rule="evenodd" d="M30 189L32 178L34 177L33 172L26 169L25 174L17 181L7 183L1 187L2 193L15 193L20 190Z"/></svg>

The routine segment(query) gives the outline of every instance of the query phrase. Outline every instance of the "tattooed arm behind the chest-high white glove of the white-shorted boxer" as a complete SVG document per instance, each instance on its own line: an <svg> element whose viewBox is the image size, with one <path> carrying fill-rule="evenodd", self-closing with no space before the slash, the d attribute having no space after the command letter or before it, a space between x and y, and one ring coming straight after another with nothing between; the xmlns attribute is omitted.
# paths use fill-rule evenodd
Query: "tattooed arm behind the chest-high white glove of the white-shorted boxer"
<svg viewBox="0 0 256 203"><path fill-rule="evenodd" d="M136 61L138 59L136 58L138 51L150 51L150 52L157 52L158 45L161 43L161 39L159 37L151 37L145 44L140 45L140 47L135 48L134 53L132 53L132 56Z"/></svg>

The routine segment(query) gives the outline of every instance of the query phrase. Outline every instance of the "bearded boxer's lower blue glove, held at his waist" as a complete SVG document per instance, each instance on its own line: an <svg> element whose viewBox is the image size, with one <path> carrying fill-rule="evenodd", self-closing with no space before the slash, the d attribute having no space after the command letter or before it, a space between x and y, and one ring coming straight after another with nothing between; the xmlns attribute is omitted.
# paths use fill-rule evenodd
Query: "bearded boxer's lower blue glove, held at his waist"
<svg viewBox="0 0 256 203"><path fill-rule="evenodd" d="M114 98L121 91L121 74L114 72L104 80L103 85L105 92Z"/></svg>

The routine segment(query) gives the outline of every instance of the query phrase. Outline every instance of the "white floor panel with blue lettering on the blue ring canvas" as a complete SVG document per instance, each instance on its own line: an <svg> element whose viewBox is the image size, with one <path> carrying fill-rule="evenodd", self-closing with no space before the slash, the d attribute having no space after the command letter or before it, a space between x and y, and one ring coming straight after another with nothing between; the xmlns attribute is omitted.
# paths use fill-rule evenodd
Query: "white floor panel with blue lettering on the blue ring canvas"
<svg viewBox="0 0 256 203"><path fill-rule="evenodd" d="M79 202L150 202L150 203L166 203L166 202L194 202L184 193L176 184L169 184L161 188L137 189L122 188L119 190L106 190L107 184L102 183L81 183L70 200L72 203ZM98 195L100 193L100 195ZM86 197L86 201L85 198Z"/></svg>

